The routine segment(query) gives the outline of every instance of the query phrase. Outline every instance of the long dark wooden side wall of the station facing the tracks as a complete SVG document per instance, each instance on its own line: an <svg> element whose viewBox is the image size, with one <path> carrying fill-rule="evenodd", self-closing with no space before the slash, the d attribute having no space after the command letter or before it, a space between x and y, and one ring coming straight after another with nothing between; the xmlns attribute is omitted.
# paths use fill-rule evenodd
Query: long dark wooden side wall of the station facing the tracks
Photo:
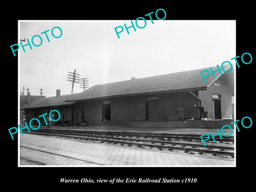
<svg viewBox="0 0 256 192"><path fill-rule="evenodd" d="M198 91L194 93L198 95ZM110 101L111 121L146 121L146 98L149 97L158 97L158 108L155 109L158 111L158 121L177 121L182 105L185 107L185 118L199 119L199 110L194 107L199 102L187 91L81 101L76 103L76 108L84 107L86 121L102 121L102 102Z"/></svg>

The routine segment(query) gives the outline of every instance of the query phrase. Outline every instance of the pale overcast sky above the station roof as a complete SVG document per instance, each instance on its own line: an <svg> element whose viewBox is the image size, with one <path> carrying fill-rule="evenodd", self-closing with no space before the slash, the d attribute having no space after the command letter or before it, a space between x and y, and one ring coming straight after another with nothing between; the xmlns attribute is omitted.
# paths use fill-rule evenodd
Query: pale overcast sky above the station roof
<svg viewBox="0 0 256 192"><path fill-rule="evenodd" d="M57 89L61 95L71 94L67 76L68 71L74 69L81 78L89 78L89 87L92 87L131 77L221 65L236 57L234 20L154 20L154 24L147 20L145 28L136 27L137 31L130 28L130 35L124 29L117 38L114 28L124 23L130 26L131 21L19 21L20 39L28 38L30 43L34 35L43 39L41 46L31 44L32 50L25 46L26 52L23 52L20 47L20 92L25 86L25 92L29 88L31 95L40 95L41 88L46 97L55 96ZM55 26L62 29L60 38L51 35ZM48 29L50 42L41 35ZM54 34L59 35L58 29L54 29ZM36 44L38 39L35 38ZM235 65L234 61L231 63ZM82 91L75 83L73 93Z"/></svg>

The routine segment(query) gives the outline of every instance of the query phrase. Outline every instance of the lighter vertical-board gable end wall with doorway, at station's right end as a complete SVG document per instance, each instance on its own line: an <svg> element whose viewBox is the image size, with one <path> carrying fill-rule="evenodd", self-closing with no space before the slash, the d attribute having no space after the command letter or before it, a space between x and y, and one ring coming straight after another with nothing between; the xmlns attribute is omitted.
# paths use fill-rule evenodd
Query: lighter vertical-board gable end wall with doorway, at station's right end
<svg viewBox="0 0 256 192"><path fill-rule="evenodd" d="M232 86L227 81L230 78L227 74L222 75L214 83L219 83L220 86L214 86L213 84L209 86L208 90L199 91L199 98L202 100L202 105L205 111L208 111L208 117L213 118L213 102L212 94L221 95L221 118L232 118L232 106L231 106L231 96L233 94Z"/></svg>

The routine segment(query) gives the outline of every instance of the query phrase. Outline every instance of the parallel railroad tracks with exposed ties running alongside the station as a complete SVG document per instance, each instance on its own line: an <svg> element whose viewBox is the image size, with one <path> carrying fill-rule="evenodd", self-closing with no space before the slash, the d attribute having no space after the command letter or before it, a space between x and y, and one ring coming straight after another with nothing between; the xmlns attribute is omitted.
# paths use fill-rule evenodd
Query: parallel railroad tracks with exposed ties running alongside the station
<svg viewBox="0 0 256 192"><path fill-rule="evenodd" d="M75 130L36 130L33 134L115 144L127 147L139 147L153 150L183 151L188 154L213 155L234 158L233 138L219 140L222 143L213 143L203 146L199 135L194 134L159 134L159 133L125 133L125 132L97 132ZM217 140L217 138L215 139ZM224 141L223 141L224 140ZM225 146L223 146L225 145Z"/></svg>

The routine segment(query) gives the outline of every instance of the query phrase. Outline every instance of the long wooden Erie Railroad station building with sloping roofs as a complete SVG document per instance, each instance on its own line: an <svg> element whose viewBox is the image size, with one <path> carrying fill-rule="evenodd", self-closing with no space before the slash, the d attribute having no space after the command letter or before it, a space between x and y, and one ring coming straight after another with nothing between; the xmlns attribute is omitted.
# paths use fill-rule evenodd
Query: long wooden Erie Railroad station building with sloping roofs
<svg viewBox="0 0 256 192"><path fill-rule="evenodd" d="M225 66L228 71L230 66ZM234 69L210 74L204 83L196 69L127 81L94 85L81 93L31 102L22 109L26 119L59 110L69 125L134 127L218 127L232 122ZM212 67L213 71L217 67ZM199 109L202 104L205 118ZM36 122L36 121L35 121ZM42 124L44 119L41 117Z"/></svg>

